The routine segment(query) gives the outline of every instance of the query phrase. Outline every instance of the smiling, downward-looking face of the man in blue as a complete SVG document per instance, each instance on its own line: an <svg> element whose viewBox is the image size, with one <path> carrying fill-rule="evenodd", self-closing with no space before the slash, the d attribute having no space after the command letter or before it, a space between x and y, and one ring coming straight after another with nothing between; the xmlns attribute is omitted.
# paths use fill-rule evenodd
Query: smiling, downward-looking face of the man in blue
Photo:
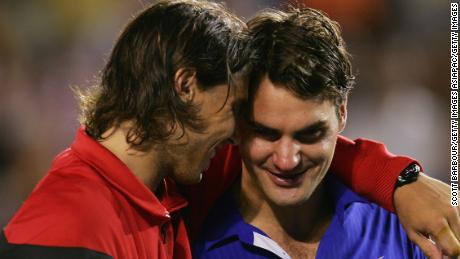
<svg viewBox="0 0 460 259"><path fill-rule="evenodd" d="M307 201L324 178L346 106L302 100L265 77L252 114L242 127L244 174L270 203L295 206Z"/></svg>

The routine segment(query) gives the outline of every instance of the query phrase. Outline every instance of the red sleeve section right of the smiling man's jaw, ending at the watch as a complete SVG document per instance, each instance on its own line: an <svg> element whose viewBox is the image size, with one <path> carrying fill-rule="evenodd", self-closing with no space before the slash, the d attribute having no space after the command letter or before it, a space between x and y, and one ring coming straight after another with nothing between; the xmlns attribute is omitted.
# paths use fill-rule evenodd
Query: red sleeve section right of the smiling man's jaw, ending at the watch
<svg viewBox="0 0 460 259"><path fill-rule="evenodd" d="M356 193L394 212L396 180L412 163L418 162L393 155L383 143L339 136L330 171Z"/></svg>

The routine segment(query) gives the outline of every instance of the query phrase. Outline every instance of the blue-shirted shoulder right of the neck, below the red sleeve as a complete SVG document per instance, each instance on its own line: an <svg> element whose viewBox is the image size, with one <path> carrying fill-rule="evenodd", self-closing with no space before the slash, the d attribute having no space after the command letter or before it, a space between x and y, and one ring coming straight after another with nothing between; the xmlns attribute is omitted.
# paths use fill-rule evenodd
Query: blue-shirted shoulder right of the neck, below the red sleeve
<svg viewBox="0 0 460 259"><path fill-rule="evenodd" d="M354 193L334 177L326 188L335 212L321 238L320 258L425 258L397 216Z"/></svg>

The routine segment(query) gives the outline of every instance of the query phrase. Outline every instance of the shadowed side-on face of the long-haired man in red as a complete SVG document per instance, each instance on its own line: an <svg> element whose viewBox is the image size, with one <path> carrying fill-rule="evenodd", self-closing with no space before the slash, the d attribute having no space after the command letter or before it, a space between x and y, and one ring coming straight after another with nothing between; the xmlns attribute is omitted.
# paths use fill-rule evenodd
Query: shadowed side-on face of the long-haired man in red
<svg viewBox="0 0 460 259"><path fill-rule="evenodd" d="M212 157L228 144L233 136L234 110L242 98L245 98L242 88L232 87L229 90L226 84L196 92L194 102L200 109L199 115L207 127L202 133L185 129L179 143L170 148L168 157L172 158L172 176L177 182L193 184L200 181Z"/></svg>

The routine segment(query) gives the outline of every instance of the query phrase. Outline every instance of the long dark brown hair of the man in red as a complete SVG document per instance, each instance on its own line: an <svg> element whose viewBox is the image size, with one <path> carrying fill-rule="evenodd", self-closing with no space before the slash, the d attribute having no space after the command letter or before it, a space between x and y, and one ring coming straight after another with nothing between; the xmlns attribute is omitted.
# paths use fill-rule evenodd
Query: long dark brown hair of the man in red
<svg viewBox="0 0 460 259"><path fill-rule="evenodd" d="M199 88L227 83L227 48L245 24L217 3L160 1L137 15L117 40L100 83L80 92L81 122L95 139L113 126L133 121L133 146L167 140L179 127L205 125L199 107L182 101L175 73L195 73Z"/></svg>

